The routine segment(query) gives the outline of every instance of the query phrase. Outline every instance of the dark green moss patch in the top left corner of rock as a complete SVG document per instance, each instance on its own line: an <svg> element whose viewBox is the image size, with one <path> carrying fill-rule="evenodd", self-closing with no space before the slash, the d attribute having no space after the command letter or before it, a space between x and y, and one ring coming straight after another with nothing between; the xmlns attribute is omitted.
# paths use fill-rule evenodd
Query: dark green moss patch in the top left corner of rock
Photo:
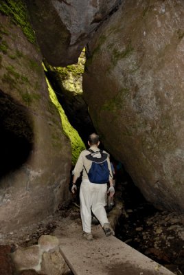
<svg viewBox="0 0 184 275"><path fill-rule="evenodd" d="M35 43L35 35L30 25L27 7L24 0L0 0L0 11L12 17L14 24L19 25L30 43Z"/></svg>

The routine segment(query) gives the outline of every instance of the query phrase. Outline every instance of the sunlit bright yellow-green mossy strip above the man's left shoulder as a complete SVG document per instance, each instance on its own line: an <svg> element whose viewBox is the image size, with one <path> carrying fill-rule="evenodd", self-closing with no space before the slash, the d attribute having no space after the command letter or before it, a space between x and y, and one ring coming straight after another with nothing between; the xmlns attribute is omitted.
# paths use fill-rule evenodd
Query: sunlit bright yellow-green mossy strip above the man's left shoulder
<svg viewBox="0 0 184 275"><path fill-rule="evenodd" d="M56 106L56 108L58 109L58 111L60 113L63 131L65 132L65 135L67 135L67 137L69 137L69 140L71 142L72 164L75 165L76 161L78 159L78 156L80 155L80 152L82 150L84 150L84 148L85 148L84 143L82 142L80 136L78 135L78 132L69 123L67 116L65 115L64 110L60 106L60 104L56 98L56 94L54 93L54 90L51 88L51 85L49 84L48 80L47 80L47 85L48 85L49 96L51 98L51 101L54 103L54 105ZM56 142L57 137L54 135L53 138Z"/></svg>

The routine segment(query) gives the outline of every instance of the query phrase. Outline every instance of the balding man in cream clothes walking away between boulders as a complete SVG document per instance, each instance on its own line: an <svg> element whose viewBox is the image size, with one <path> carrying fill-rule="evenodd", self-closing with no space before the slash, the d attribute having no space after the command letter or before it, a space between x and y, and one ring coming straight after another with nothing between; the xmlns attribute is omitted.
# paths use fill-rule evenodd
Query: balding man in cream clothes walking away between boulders
<svg viewBox="0 0 184 275"><path fill-rule="evenodd" d="M93 182L89 181L89 171L92 166L91 157L95 159L96 163L107 162L108 166L108 179L110 187L108 192L113 197L115 188L113 186L113 177L111 171L111 164L108 154L105 151L101 151L98 146L100 144L99 136L95 133L89 135L88 144L90 146L89 151L84 150L80 153L76 166L73 170L73 186L71 191L74 193L77 190L76 180L80 177L82 172L82 183L80 186L80 216L82 220L83 236L87 240L93 240L91 234L91 210L95 217L100 221L102 228L106 236L114 235L113 228L106 217L106 210L104 208L106 203L107 182L95 182L95 171L93 171ZM92 155L92 156L91 156ZM91 178L91 177L90 177Z"/></svg>

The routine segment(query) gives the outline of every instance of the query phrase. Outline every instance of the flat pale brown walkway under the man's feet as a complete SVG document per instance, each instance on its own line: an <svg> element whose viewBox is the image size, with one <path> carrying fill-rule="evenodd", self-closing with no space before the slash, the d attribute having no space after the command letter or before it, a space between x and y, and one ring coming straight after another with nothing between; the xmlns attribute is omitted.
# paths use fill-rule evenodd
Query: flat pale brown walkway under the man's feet
<svg viewBox="0 0 184 275"><path fill-rule="evenodd" d="M115 236L95 227L93 241L73 226L60 238L60 252L75 275L174 275Z"/></svg>

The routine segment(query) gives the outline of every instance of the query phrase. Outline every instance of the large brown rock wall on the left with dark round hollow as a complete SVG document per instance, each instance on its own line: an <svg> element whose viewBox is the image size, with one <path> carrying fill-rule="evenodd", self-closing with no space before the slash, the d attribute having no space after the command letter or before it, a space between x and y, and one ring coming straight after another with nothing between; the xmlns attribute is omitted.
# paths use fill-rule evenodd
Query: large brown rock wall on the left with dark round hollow
<svg viewBox="0 0 184 275"><path fill-rule="evenodd" d="M71 147L49 99L38 47L8 17L0 22L0 232L10 232L69 199Z"/></svg>

